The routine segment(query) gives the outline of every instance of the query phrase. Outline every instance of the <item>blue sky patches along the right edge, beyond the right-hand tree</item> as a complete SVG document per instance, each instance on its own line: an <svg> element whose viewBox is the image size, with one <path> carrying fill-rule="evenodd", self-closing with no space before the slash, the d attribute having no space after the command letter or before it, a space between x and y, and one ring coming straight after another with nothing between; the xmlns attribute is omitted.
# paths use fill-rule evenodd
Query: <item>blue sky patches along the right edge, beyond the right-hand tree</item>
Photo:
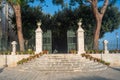
<svg viewBox="0 0 120 80"><path fill-rule="evenodd" d="M115 4L120 10L120 0L117 0L117 3ZM116 35L117 33L117 35ZM118 36L118 38L117 38ZM118 42L117 42L118 39ZM99 48L103 49L103 41L107 40L108 41L108 49L109 50L114 50L114 49L119 49L120 50L120 26L118 29L115 29L113 32L107 32L104 34L103 38L99 40ZM118 47L117 47L118 45Z"/></svg>

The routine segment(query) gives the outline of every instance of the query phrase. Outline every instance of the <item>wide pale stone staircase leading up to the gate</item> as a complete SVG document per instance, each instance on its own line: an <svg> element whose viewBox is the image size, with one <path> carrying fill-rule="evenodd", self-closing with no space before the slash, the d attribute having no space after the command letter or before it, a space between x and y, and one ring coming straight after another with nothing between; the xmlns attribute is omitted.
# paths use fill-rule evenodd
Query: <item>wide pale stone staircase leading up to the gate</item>
<svg viewBox="0 0 120 80"><path fill-rule="evenodd" d="M78 54L45 54L28 63L19 65L23 71L88 72L107 69L106 65L90 61Z"/></svg>

